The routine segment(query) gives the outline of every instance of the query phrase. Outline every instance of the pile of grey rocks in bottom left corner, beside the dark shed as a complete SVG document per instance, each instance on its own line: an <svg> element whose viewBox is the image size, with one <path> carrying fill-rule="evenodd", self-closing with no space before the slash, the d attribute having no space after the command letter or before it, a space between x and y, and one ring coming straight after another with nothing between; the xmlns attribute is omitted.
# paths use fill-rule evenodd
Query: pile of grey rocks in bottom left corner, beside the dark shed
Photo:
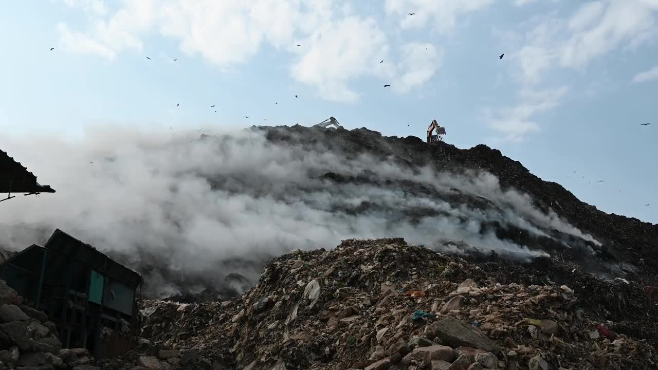
<svg viewBox="0 0 658 370"><path fill-rule="evenodd" d="M62 348L55 324L45 313L0 280L0 369L97 370L85 348Z"/></svg>

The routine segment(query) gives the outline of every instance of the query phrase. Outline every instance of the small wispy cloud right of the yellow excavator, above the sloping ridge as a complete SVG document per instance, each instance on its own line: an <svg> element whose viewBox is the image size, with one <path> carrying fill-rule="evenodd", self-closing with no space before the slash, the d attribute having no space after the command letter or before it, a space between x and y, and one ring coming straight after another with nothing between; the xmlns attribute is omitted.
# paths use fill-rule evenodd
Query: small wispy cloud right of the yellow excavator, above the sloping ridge
<svg viewBox="0 0 658 370"><path fill-rule="evenodd" d="M527 134L540 130L534 115L557 107L567 93L567 86L548 90L522 90L522 103L515 107L501 109L488 126L505 136L506 140L521 141Z"/></svg>

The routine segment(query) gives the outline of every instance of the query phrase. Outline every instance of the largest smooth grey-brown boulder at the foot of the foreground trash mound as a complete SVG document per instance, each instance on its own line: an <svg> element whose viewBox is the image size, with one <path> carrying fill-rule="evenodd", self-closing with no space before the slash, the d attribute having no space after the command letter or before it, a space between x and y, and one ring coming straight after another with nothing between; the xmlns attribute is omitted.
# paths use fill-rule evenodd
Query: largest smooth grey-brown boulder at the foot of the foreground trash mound
<svg viewBox="0 0 658 370"><path fill-rule="evenodd" d="M464 321L445 316L432 325L436 336L441 338L445 344L453 347L478 348L486 352L498 352L498 348L491 339L482 334L476 327Z"/></svg>

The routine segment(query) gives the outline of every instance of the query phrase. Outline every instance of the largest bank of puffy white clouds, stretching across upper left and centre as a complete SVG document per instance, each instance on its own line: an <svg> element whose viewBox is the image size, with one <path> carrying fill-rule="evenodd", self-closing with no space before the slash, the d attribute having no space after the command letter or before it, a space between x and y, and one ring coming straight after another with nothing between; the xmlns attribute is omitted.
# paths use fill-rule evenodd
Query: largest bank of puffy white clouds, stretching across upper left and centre
<svg viewBox="0 0 658 370"><path fill-rule="evenodd" d="M336 0L125 0L114 13L99 0L64 1L94 13L89 30L59 24L61 43L68 51L109 59L126 51L149 55L142 40L155 32L178 41L186 55L227 68L249 61L269 43L291 53L295 80L334 101L358 99L359 93L349 85L367 75L385 77L392 85L395 81L394 90L409 92L433 76L442 54L432 45L406 43L399 57L390 57L390 40L378 21L355 14L350 3ZM444 15L451 24L473 8L458 4L448 8L451 15ZM378 65L381 59L388 63Z"/></svg>

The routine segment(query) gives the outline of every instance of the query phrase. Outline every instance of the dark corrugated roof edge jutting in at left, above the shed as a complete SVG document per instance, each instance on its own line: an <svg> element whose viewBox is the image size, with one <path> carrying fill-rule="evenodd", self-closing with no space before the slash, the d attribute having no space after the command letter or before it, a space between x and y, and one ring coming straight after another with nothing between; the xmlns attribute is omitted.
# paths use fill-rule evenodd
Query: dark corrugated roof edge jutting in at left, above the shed
<svg viewBox="0 0 658 370"><path fill-rule="evenodd" d="M54 193L49 185L40 185L37 176L0 150L0 193Z"/></svg>

